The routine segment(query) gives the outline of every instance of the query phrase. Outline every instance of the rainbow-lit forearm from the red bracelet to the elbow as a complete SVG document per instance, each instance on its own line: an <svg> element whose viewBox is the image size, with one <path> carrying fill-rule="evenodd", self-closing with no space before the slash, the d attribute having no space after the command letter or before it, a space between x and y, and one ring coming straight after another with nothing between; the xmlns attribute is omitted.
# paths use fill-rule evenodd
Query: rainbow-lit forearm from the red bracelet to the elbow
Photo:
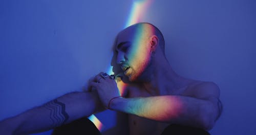
<svg viewBox="0 0 256 135"><path fill-rule="evenodd" d="M110 108L160 122L210 128L212 114L210 102L184 96L156 96L147 98L117 98Z"/></svg>

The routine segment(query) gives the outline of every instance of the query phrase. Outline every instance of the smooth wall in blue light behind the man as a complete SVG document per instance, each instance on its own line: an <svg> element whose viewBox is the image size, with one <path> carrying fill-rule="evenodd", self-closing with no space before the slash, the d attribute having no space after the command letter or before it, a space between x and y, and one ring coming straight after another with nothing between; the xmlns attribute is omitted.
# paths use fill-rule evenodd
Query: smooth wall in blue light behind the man
<svg viewBox="0 0 256 135"><path fill-rule="evenodd" d="M132 4L0 1L0 120L80 91L106 71ZM178 74L219 85L224 108L211 134L255 133L255 7L253 0L155 0L140 18L162 31Z"/></svg>

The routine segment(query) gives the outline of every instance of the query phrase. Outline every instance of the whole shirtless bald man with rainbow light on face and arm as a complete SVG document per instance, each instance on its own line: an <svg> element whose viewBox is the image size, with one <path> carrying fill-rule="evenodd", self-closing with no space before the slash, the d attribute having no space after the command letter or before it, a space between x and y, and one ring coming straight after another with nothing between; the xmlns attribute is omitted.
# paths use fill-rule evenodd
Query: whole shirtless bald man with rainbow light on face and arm
<svg viewBox="0 0 256 135"><path fill-rule="evenodd" d="M176 74L165 57L163 36L151 24L136 24L118 34L112 65L116 81L99 73L87 92L69 93L5 119L0 132L46 131L105 108L116 110L120 119L103 134L161 134L170 124L209 130L221 115L218 86Z"/></svg>

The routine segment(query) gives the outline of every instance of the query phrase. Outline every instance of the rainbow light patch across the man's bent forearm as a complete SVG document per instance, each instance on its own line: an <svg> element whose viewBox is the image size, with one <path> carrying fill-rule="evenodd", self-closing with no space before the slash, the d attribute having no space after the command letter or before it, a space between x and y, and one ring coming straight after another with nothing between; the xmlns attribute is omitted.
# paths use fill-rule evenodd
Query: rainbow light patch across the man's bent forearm
<svg viewBox="0 0 256 135"><path fill-rule="evenodd" d="M152 107L152 106L155 107ZM134 106L129 104L128 106ZM184 104L182 99L175 96L155 96L137 100L135 109L127 107L127 112L133 114L136 112L138 116L153 119L162 122L168 122L170 119L176 119L184 112ZM136 109L138 108L138 109ZM159 114L159 110L161 113Z"/></svg>

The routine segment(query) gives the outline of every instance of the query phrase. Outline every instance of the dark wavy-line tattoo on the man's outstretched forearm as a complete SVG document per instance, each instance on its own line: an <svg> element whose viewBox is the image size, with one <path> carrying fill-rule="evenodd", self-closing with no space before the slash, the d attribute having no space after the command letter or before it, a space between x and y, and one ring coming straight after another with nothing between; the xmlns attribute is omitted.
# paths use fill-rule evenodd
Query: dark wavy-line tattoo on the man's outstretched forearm
<svg viewBox="0 0 256 135"><path fill-rule="evenodd" d="M65 104L58 102L57 99L48 102L45 107L50 110L53 127L60 126L69 119L69 115L65 111Z"/></svg>

